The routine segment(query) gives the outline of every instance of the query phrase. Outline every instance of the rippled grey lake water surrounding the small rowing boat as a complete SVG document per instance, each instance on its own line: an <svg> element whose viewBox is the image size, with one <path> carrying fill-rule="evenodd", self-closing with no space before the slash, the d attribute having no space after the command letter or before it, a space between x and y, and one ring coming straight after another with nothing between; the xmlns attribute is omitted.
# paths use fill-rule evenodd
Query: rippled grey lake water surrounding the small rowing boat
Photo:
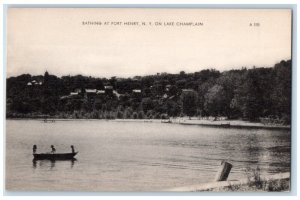
<svg viewBox="0 0 300 200"><path fill-rule="evenodd" d="M290 131L70 120L6 121L9 191L160 191L213 181L220 162L229 180L290 171ZM79 151L75 161L33 162L37 152Z"/></svg>

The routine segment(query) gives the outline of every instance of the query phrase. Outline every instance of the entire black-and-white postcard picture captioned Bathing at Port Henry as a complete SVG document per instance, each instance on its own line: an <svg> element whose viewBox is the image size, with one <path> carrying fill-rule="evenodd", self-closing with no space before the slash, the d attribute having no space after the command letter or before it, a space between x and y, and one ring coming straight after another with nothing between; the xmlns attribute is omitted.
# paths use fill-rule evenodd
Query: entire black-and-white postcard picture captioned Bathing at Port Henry
<svg viewBox="0 0 300 200"><path fill-rule="evenodd" d="M292 9L6 16L8 192L290 192Z"/></svg>

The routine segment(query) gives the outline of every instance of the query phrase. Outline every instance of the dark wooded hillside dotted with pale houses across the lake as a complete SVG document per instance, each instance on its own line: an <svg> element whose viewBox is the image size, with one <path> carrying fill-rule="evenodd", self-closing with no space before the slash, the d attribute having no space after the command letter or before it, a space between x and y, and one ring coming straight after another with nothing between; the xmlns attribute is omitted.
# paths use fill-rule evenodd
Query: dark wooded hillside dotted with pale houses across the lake
<svg viewBox="0 0 300 200"><path fill-rule="evenodd" d="M225 116L290 123L291 61L272 68L207 69L133 78L23 74L7 79L6 106L7 117Z"/></svg>

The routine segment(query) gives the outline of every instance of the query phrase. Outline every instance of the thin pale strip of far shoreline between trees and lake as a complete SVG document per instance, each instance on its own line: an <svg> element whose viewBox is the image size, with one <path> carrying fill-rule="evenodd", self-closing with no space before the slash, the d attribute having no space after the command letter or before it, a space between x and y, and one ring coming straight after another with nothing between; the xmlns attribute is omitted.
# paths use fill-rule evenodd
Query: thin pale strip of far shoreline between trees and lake
<svg viewBox="0 0 300 200"><path fill-rule="evenodd" d="M208 127L220 127L220 128L258 128L258 129L291 129L290 125L281 124L263 124L261 122L249 122L243 120L212 120L212 119L199 119L193 117L178 117L170 119L72 119L72 118L7 118L15 120L40 120L44 122L55 122L55 121L73 121L73 120L102 120L112 122L143 122L143 123L168 123L168 124L181 124L181 125L198 125Z"/></svg>

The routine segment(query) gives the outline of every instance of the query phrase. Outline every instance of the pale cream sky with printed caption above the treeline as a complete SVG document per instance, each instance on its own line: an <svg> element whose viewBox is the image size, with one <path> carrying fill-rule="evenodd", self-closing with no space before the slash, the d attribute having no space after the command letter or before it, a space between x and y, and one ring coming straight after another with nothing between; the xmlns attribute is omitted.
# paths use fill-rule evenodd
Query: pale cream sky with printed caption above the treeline
<svg viewBox="0 0 300 200"><path fill-rule="evenodd" d="M289 9L8 9L8 77L132 77L287 59Z"/></svg>

